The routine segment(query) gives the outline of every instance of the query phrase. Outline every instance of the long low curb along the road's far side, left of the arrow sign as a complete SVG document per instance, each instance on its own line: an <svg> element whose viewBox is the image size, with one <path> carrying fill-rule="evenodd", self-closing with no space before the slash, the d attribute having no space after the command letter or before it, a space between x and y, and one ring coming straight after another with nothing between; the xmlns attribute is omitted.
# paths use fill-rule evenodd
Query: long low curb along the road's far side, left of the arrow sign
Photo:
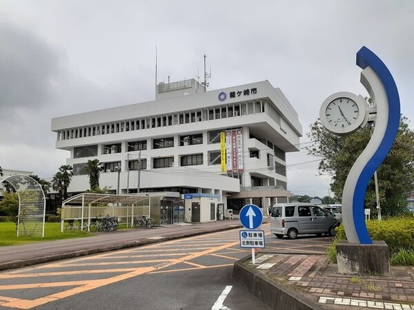
<svg viewBox="0 0 414 310"><path fill-rule="evenodd" d="M16 269L16 268L26 267L30 265L43 264L45 262L52 262L55 260L65 260L68 258L88 256L88 255L98 254L98 253L103 253L103 252L108 252L108 251L117 251L119 249L128 249L130 247L140 247L142 245L149 245L151 243L186 238L190 236L197 236L197 235L207 234L210 232L224 231L224 230L230 230L230 229L235 229L235 228L240 228L240 227L242 227L242 225L238 225L235 227L221 227L218 229L211 229L210 231L194 231L194 232L189 232L185 234L179 234L176 236L167 236L167 237L159 238L157 240L144 239L144 240L137 240L133 242L125 242L120 245L107 245L105 247L94 247L91 249L72 251L69 253L52 254L49 256L41 256L37 258L28 258L26 260L14 260L12 262L2 262L0 263L0 270Z"/></svg>

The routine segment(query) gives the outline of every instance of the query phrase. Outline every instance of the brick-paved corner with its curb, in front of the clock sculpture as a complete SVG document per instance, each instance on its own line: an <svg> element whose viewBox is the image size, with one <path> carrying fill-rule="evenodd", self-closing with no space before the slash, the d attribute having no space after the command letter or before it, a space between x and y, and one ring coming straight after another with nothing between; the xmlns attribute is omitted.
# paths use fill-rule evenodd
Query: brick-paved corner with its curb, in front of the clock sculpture
<svg viewBox="0 0 414 310"><path fill-rule="evenodd" d="M346 276L325 255L266 251L255 262L239 260L233 276L277 309L414 309L414 267L392 266L391 276Z"/></svg>

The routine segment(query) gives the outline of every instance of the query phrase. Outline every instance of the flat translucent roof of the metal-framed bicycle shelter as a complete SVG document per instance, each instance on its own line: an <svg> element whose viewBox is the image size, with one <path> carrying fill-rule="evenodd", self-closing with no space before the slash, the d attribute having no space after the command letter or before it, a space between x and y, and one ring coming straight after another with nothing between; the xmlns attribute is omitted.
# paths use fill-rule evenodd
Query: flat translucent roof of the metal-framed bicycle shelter
<svg viewBox="0 0 414 310"><path fill-rule="evenodd" d="M121 203L123 205L133 205L140 201L150 198L149 194L135 194L135 195L112 195L112 194L92 194L82 193L76 196L70 197L63 201L63 205L71 205L79 203L83 205L89 205L94 203Z"/></svg>

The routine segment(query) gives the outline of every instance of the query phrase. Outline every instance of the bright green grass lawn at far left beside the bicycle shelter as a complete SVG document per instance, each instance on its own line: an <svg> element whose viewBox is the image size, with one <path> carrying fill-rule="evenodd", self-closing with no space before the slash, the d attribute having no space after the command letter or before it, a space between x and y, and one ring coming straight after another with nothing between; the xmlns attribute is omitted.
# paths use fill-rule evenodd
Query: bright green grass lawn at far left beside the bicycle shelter
<svg viewBox="0 0 414 310"><path fill-rule="evenodd" d="M16 225L14 223L0 223L0 247L4 247L6 245L23 245L25 243L93 236L92 233L88 233L86 231L63 231L63 233L61 233L60 226L61 223L45 223L44 238L28 236L17 237Z"/></svg>

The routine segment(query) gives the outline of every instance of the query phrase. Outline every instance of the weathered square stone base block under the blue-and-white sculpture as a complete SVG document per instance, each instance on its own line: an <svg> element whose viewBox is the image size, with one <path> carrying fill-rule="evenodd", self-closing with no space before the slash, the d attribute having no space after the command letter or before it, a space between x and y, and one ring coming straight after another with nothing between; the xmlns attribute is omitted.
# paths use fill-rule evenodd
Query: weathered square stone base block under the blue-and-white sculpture
<svg viewBox="0 0 414 310"><path fill-rule="evenodd" d="M361 245L339 241L337 244L338 273L358 275L390 275L390 254L385 241Z"/></svg>

